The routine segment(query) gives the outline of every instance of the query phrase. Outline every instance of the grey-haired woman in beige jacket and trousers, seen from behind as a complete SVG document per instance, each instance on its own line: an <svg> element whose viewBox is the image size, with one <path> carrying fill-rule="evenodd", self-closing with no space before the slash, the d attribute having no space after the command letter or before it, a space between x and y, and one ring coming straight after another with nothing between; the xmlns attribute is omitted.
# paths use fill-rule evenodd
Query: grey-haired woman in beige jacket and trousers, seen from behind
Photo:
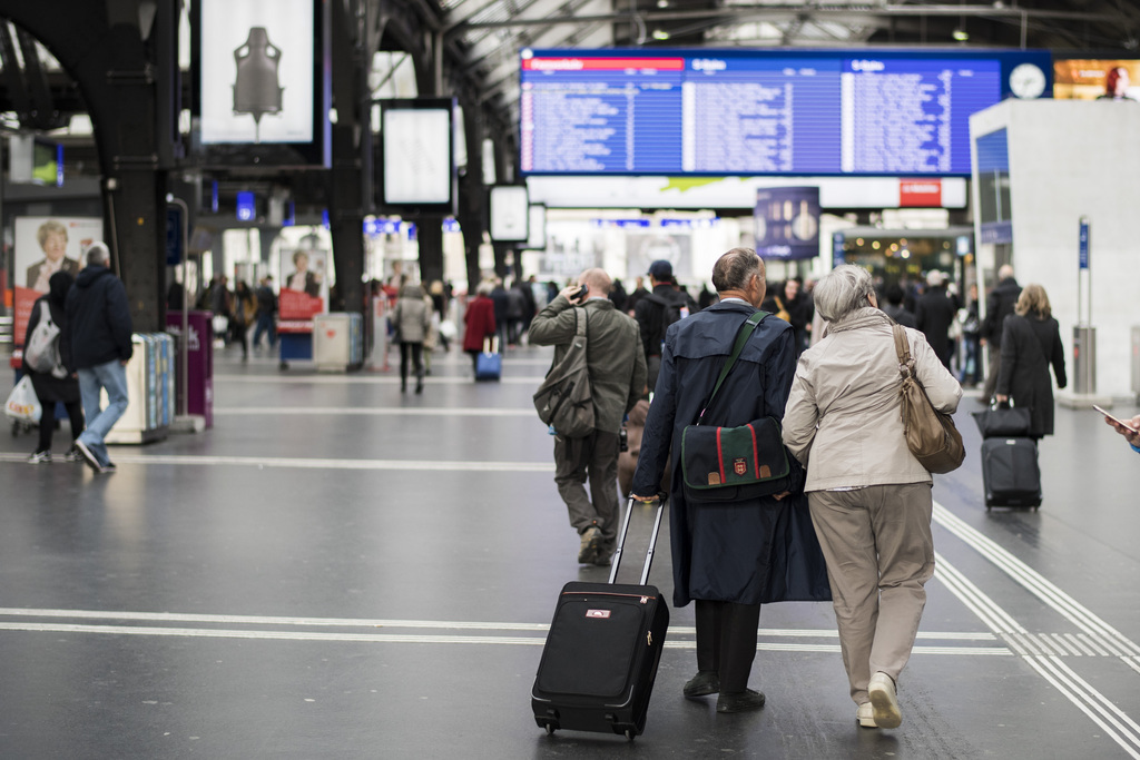
<svg viewBox="0 0 1140 760"><path fill-rule="evenodd" d="M934 575L934 501L930 473L903 438L894 322L878 305L860 267L837 267L815 286L828 335L799 359L783 439L807 467L856 720L895 728L902 722L896 683ZM906 336L931 403L954 411L958 381L922 333L907 328Z"/></svg>

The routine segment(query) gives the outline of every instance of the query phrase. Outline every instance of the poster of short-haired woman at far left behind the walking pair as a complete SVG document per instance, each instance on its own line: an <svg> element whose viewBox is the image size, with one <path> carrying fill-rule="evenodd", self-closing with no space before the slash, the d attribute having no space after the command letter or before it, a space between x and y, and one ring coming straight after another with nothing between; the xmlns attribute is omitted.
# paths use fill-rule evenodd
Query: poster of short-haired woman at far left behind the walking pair
<svg viewBox="0 0 1140 760"><path fill-rule="evenodd" d="M15 222L15 319L13 337L24 345L35 300L58 271L74 277L87 246L103 239L103 220L90 216L17 216Z"/></svg>

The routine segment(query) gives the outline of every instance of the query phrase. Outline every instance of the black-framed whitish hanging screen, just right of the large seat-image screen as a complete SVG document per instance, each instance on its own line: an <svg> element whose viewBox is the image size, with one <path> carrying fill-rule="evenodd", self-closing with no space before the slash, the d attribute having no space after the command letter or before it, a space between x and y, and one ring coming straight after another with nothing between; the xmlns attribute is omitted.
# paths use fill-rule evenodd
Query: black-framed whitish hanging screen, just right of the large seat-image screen
<svg viewBox="0 0 1140 760"><path fill-rule="evenodd" d="M381 206L455 213L454 115L449 98L381 101Z"/></svg>

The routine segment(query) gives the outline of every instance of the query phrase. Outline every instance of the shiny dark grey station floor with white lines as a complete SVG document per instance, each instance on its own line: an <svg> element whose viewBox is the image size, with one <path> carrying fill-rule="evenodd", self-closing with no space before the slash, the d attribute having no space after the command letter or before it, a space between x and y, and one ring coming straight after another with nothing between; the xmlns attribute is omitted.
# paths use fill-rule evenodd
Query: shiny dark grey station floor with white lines
<svg viewBox="0 0 1140 760"><path fill-rule="evenodd" d="M1042 508L987 513L976 398L967 461L935 484L901 728L856 726L830 605L776 604L762 711L681 696L690 606L644 735L546 736L529 695L554 599L606 572L577 563L530 403L549 358L512 351L475 384L437 352L415 395L394 367L227 349L213 428L114 447L113 475L28 465L32 435L5 433L0 758L1140 758L1140 456L1059 407Z"/></svg>

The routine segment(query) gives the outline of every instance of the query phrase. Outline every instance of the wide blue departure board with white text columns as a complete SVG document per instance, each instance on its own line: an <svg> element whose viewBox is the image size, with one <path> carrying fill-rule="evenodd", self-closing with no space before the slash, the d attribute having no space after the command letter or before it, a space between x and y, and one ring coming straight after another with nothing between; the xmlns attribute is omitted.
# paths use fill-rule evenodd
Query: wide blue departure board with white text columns
<svg viewBox="0 0 1140 760"><path fill-rule="evenodd" d="M523 50L532 174L969 175L969 117L1043 51Z"/></svg>

